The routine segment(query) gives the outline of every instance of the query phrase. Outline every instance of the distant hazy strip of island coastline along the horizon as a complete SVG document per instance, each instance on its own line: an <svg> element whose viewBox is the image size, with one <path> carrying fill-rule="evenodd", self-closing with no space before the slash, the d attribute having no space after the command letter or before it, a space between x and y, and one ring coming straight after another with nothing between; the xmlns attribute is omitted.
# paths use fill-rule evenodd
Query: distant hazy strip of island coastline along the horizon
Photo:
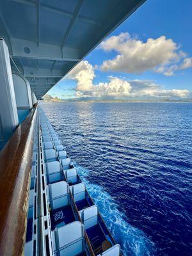
<svg viewBox="0 0 192 256"><path fill-rule="evenodd" d="M60 99L58 97L52 97L49 94L45 94L42 97L43 102L192 102L192 99L152 99L152 100L116 100L116 99L98 99L98 98L74 98L74 99Z"/></svg>

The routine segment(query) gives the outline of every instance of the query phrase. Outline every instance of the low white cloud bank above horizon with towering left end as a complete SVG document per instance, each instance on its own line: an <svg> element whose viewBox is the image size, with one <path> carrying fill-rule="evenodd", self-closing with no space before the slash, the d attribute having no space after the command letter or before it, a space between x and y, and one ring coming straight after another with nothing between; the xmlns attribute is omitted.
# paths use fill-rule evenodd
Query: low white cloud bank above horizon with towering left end
<svg viewBox="0 0 192 256"><path fill-rule="evenodd" d="M88 61L81 61L69 74L68 78L77 81L77 97L105 97L125 99L128 97L188 97L188 90L165 90L163 86L151 80L132 80L125 78L108 77L108 83L94 84L94 67Z"/></svg>

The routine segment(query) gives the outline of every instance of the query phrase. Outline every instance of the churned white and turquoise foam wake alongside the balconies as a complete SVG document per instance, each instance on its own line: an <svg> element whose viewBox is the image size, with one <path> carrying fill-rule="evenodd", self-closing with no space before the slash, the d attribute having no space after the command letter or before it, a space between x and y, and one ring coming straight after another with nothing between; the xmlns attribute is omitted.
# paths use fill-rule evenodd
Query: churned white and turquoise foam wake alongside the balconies
<svg viewBox="0 0 192 256"><path fill-rule="evenodd" d="M115 200L104 191L102 186L93 184L86 179L89 170L76 164L81 179L86 184L88 192L97 204L106 225L117 243L122 247L125 256L154 255L154 244L138 228L132 227L125 221L124 213L118 210Z"/></svg>

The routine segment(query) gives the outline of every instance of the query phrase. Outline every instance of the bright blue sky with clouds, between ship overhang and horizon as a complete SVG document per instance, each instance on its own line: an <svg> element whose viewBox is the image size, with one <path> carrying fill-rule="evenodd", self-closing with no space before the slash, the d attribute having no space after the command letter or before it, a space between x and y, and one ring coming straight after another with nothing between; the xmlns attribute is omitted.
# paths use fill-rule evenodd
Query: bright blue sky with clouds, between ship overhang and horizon
<svg viewBox="0 0 192 256"><path fill-rule="evenodd" d="M191 10L189 0L147 0L48 93L64 99L191 97Z"/></svg>

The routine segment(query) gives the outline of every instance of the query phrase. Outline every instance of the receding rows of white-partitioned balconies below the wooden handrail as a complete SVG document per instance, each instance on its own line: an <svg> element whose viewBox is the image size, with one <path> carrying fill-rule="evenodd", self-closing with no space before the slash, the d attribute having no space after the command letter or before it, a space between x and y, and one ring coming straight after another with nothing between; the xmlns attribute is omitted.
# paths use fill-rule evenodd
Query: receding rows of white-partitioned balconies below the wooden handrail
<svg viewBox="0 0 192 256"><path fill-rule="evenodd" d="M25 255L38 249L37 230L45 255L120 255L72 159L42 109L38 110Z"/></svg>

